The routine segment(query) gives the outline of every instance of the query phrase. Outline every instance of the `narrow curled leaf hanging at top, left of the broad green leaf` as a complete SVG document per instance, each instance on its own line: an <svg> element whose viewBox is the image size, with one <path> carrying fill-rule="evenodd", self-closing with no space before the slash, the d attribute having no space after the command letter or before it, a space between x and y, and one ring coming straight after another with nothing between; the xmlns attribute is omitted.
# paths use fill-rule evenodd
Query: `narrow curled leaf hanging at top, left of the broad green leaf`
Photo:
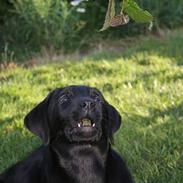
<svg viewBox="0 0 183 183"><path fill-rule="evenodd" d="M105 17L105 22L100 31L106 30L110 27L111 19L115 16L115 0L109 0L108 9Z"/></svg>

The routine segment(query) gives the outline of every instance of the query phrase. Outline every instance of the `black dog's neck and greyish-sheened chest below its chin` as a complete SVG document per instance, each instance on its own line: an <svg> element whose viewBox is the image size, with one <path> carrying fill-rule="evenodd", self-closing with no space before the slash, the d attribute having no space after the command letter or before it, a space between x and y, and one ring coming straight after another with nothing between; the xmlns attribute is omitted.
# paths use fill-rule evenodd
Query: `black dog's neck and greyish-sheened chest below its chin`
<svg viewBox="0 0 183 183"><path fill-rule="evenodd" d="M109 144L106 140L99 143L66 143L52 145L57 154L58 165L67 182L104 183L105 167ZM99 181L100 180L100 181Z"/></svg>

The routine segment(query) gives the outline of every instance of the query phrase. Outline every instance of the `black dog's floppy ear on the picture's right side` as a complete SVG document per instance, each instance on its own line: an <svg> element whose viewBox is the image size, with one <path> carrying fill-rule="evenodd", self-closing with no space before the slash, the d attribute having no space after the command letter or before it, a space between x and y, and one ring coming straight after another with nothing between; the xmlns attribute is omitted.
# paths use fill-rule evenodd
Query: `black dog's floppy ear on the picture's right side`
<svg viewBox="0 0 183 183"><path fill-rule="evenodd" d="M108 125L109 125L109 135L112 136L121 125L121 115L119 112L109 103L107 105L107 115L108 115Z"/></svg>

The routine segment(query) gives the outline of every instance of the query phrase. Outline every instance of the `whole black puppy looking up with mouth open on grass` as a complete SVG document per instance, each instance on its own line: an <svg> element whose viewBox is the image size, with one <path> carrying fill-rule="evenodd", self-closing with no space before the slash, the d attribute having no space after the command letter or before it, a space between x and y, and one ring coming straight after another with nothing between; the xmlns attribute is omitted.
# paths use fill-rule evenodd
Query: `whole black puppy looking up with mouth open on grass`
<svg viewBox="0 0 183 183"><path fill-rule="evenodd" d="M120 114L97 89L55 89L25 117L45 145L1 174L0 183L132 183L111 148L120 124Z"/></svg>

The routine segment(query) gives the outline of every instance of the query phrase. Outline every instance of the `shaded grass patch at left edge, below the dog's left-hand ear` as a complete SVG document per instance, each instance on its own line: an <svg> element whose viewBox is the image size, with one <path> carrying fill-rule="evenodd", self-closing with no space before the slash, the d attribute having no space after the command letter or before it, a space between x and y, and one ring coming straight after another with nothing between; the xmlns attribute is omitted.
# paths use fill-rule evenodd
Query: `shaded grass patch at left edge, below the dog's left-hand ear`
<svg viewBox="0 0 183 183"><path fill-rule="evenodd" d="M40 145L36 137L23 135L20 129L0 132L0 173L26 158Z"/></svg>

